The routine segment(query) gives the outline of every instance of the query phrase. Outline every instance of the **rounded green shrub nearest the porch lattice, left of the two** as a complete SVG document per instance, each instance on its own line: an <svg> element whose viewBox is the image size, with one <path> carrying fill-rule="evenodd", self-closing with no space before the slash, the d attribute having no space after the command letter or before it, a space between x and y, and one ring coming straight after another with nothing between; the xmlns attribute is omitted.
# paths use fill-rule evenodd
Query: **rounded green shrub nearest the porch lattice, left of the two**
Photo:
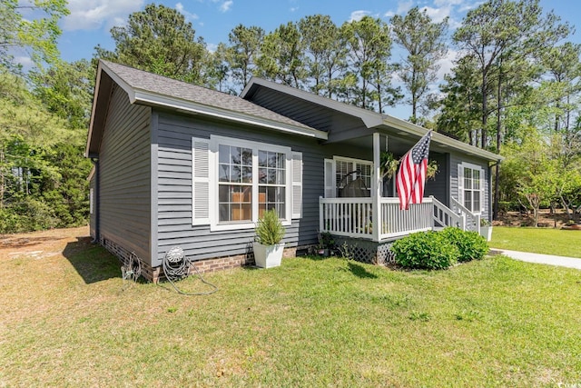
<svg viewBox="0 0 581 388"><path fill-rule="evenodd" d="M458 260L458 248L438 232L409 234L391 246L396 264L405 268L437 270Z"/></svg>

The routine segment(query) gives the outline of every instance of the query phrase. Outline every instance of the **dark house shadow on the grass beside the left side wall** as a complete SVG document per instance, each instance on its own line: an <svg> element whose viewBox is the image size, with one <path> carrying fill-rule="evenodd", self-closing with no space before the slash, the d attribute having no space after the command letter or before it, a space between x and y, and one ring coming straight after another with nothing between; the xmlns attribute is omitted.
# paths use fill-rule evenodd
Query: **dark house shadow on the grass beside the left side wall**
<svg viewBox="0 0 581 388"><path fill-rule="evenodd" d="M121 263L103 246L91 244L91 237L77 237L64 247L63 255L73 264L85 284L122 277Z"/></svg>

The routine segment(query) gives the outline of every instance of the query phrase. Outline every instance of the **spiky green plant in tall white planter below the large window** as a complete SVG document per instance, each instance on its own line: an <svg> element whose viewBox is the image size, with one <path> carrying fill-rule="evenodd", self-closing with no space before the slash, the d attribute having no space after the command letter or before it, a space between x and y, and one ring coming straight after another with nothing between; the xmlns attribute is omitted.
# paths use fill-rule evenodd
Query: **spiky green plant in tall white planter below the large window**
<svg viewBox="0 0 581 388"><path fill-rule="evenodd" d="M284 243L284 228L276 210L264 212L256 225L256 241L252 243L256 266L271 268L281 265Z"/></svg>

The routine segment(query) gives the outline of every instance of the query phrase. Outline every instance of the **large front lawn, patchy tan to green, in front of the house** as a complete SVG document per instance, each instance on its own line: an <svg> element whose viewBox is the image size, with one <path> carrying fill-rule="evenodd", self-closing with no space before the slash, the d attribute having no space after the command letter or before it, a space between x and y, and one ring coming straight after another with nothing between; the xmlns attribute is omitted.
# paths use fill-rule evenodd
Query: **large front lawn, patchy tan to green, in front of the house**
<svg viewBox="0 0 581 388"><path fill-rule="evenodd" d="M123 288L116 259L82 248L0 257L0 386L581 383L576 270L502 256L441 272L294 258L207 274L220 290L189 297Z"/></svg>

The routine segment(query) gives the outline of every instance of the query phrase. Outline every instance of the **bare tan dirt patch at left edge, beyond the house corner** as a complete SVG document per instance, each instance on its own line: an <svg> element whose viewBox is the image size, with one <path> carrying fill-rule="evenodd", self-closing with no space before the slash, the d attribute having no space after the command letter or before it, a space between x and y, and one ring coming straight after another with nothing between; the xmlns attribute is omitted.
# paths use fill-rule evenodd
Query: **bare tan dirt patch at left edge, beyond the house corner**
<svg viewBox="0 0 581 388"><path fill-rule="evenodd" d="M89 227L51 229L26 234L1 234L0 259L28 256L34 259L62 254L66 244L87 240Z"/></svg>

